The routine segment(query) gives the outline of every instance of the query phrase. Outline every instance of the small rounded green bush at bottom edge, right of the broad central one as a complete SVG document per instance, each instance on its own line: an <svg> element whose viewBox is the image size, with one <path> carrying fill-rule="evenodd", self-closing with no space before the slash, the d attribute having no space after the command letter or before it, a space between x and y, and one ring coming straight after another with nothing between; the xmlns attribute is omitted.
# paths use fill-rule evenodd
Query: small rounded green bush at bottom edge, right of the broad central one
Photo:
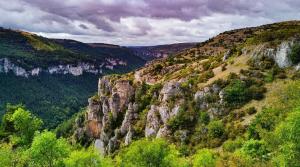
<svg viewBox="0 0 300 167"><path fill-rule="evenodd" d="M214 167L216 166L216 156L211 150L199 150L193 157L193 167Z"/></svg>

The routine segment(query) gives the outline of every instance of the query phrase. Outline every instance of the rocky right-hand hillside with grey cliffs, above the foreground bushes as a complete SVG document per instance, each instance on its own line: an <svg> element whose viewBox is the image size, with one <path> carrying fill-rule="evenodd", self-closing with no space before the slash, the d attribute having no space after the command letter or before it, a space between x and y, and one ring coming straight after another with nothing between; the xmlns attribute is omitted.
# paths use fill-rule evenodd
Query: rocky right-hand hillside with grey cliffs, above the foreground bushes
<svg viewBox="0 0 300 167"><path fill-rule="evenodd" d="M227 32L135 72L101 78L76 139L86 135L103 154L143 137L205 145L211 137L207 120L243 122L237 109L264 97L269 73L284 78L287 67L298 70L299 62L290 56L299 45L297 35L276 43L251 42L255 35L249 36L249 31L261 29ZM232 39L243 33L244 39ZM241 123L227 133L243 133L247 126ZM220 145L225 137L218 135L215 142Z"/></svg>

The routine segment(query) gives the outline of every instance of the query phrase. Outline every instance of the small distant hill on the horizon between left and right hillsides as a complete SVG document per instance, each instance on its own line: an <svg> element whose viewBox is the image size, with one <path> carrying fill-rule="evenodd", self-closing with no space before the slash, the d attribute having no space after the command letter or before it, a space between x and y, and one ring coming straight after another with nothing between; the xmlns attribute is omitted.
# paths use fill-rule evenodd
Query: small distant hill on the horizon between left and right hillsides
<svg viewBox="0 0 300 167"><path fill-rule="evenodd" d="M182 52L186 49L192 48L196 43L176 43L169 45L157 45L157 46L136 46L129 47L136 56L143 58L144 60L154 60L157 58L165 58L170 55Z"/></svg>

